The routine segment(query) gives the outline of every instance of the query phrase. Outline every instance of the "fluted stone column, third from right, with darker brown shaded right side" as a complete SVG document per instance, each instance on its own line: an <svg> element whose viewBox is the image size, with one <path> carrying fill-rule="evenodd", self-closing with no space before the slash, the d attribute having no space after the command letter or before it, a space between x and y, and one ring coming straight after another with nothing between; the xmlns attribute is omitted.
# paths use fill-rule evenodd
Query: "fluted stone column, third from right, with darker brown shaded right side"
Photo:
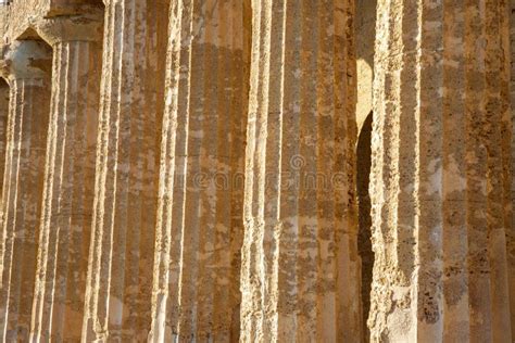
<svg viewBox="0 0 515 343"><path fill-rule="evenodd" d="M153 342L238 340L249 11L171 2Z"/></svg>

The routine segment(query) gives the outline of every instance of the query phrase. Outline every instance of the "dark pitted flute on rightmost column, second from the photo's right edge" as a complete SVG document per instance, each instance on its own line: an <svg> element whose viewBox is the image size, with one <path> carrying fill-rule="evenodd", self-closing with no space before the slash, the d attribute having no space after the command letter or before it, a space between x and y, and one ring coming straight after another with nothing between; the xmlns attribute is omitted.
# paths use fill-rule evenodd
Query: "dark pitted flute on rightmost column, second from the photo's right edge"
<svg viewBox="0 0 515 343"><path fill-rule="evenodd" d="M468 237L468 288L470 315L487 314L490 310L490 280L483 276L489 272L487 257L487 182L482 179L487 173L487 156L482 127L485 125L485 53L477 41L485 41L485 2L468 2L466 12L466 129L469 139L466 142L467 155L467 237ZM469 323L470 338L479 341L491 340L491 317Z"/></svg>

